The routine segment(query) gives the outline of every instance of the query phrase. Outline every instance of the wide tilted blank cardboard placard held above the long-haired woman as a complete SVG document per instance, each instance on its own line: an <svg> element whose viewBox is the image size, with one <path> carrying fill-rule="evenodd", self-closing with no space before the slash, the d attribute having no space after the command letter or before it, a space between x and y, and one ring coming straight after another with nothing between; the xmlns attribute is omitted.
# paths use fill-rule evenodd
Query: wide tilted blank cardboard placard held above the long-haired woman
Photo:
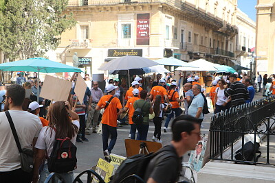
<svg viewBox="0 0 275 183"><path fill-rule="evenodd" d="M46 75L40 97L54 101L67 101L72 82Z"/></svg>

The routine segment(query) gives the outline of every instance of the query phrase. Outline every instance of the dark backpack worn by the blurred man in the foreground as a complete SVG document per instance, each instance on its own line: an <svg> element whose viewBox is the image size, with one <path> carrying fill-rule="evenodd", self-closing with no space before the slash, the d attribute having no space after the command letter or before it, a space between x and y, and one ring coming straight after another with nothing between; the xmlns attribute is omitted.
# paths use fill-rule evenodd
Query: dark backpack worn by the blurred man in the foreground
<svg viewBox="0 0 275 183"><path fill-rule="evenodd" d="M120 182L124 178L133 174L138 175L140 178L144 179L148 164L153 158L155 158L157 155L161 153L164 153L162 156L165 156L165 158L168 158L170 156L177 157L176 154L173 154L170 151L166 151L165 147L157 151L155 154L153 153L150 153L147 155L137 154L137 155L131 156L129 158L126 158L126 160L124 160L122 164L120 164L120 167L118 167L117 171L115 171L115 174L111 177L111 183ZM155 164L156 163L157 163L157 160ZM128 180L127 182L124 182L124 183L131 183L131 182L132 180Z"/></svg>

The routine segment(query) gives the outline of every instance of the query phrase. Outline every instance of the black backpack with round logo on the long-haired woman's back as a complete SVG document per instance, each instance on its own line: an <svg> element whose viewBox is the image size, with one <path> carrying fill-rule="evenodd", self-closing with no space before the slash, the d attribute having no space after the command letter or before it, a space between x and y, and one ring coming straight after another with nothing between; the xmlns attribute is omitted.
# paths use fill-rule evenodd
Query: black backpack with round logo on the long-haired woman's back
<svg viewBox="0 0 275 183"><path fill-rule="evenodd" d="M70 138L56 138L47 167L50 172L66 173L76 169L76 146Z"/></svg>

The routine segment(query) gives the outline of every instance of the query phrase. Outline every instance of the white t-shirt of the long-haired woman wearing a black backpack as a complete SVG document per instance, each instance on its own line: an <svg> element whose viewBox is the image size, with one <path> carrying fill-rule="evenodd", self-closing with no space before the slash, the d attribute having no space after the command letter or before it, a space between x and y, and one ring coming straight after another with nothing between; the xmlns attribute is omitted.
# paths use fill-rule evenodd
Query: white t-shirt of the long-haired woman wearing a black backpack
<svg viewBox="0 0 275 183"><path fill-rule="evenodd" d="M74 120L73 123L78 127L79 129L79 121ZM51 136L52 133L52 136ZM71 142L73 144L76 144L76 135L71 139ZM47 156L50 157L52 153L52 148L54 146L54 141L56 140L56 132L52 130L50 127L43 127L41 132L39 133L39 138L36 141L36 145L34 146L37 149L43 149L47 151Z"/></svg>

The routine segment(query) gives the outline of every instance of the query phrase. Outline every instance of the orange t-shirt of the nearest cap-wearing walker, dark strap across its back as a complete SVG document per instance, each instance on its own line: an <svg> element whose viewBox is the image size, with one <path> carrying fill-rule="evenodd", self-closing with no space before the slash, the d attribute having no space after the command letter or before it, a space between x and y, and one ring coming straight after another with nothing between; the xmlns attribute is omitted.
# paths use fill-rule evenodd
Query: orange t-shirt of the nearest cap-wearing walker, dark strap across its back
<svg viewBox="0 0 275 183"><path fill-rule="evenodd" d="M104 95L103 97L101 97L101 99L98 101L98 106L100 108L105 107L107 101L109 101L111 97L113 97L113 95ZM101 123L112 127L116 127L118 124L116 121L118 119L117 109L121 108L122 106L120 103L120 99L118 99L117 97L113 97L113 99L109 103L109 106L104 110Z"/></svg>

